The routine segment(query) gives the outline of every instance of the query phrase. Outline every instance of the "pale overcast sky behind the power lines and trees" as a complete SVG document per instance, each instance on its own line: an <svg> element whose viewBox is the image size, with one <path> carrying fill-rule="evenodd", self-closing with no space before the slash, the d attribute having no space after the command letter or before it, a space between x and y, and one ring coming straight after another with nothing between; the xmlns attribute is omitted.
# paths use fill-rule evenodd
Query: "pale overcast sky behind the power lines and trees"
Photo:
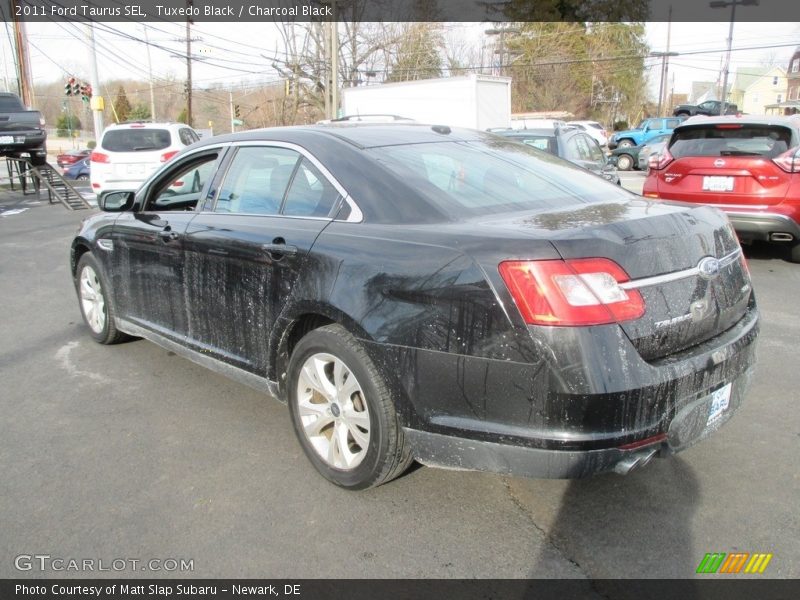
<svg viewBox="0 0 800 600"><path fill-rule="evenodd" d="M185 24L147 23L147 35L153 44L175 53L183 53ZM488 25L453 23L444 24L448 36L479 41ZM667 89L674 81L675 93L688 92L692 81L715 80L721 69L727 47L728 23L672 23L669 50L680 53L671 59ZM0 77L13 81L14 67L9 46L10 24L5 24L2 36L3 72ZM192 36L200 38L194 50L207 61L193 63L196 87L209 85L237 86L243 82L265 81L277 78L271 67L271 57L281 57L284 52L271 23L200 23L192 28ZM89 49L86 26L73 23L28 23L28 38L34 82L46 83L64 80L67 74L81 79L90 77ZM148 61L143 39L145 26L132 23L98 23L95 27L98 46L100 80L119 77L147 80ZM667 23L648 23L647 38L652 50L667 49ZM795 49L800 46L798 23L746 23L737 22L733 34L734 48L776 46L731 54L731 72L738 67L761 66L775 62L786 68ZM708 52L713 51L713 52ZM704 52L702 54L689 54ZM154 77L172 76L177 80L186 77L185 61L169 53L151 50ZM214 63L216 66L212 66ZM651 89L658 90L661 69L660 59L648 59L653 65Z"/></svg>

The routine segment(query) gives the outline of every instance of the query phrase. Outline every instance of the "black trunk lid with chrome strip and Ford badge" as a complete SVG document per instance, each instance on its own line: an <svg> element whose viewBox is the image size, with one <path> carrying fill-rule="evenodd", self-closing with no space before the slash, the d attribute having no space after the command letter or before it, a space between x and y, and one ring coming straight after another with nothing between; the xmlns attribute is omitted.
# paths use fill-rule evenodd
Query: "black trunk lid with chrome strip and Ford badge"
<svg viewBox="0 0 800 600"><path fill-rule="evenodd" d="M645 360L719 335L750 302L739 242L724 213L711 207L632 200L483 225L516 225L518 233L547 237L564 259L599 257L620 265L631 278L623 287L637 289L645 302L644 315L620 327Z"/></svg>

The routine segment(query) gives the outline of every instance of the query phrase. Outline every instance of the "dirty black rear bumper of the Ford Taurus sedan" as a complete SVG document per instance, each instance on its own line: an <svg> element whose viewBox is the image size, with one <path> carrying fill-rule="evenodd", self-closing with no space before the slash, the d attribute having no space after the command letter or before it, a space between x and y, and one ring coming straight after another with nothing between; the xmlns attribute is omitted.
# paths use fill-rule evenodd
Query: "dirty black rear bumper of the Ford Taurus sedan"
<svg viewBox="0 0 800 600"><path fill-rule="evenodd" d="M447 355L417 356L412 389L401 383L416 399L405 430L415 458L430 466L537 478L624 473L637 460L641 465L688 448L730 419L752 379L758 329L753 306L712 340L652 363L627 364L633 374L627 380L617 374L622 384L610 392L586 389L591 385L578 383L585 374L571 373L573 367L542 374L489 359L467 364L465 357L454 358L456 380L449 381ZM408 358L397 356L394 364ZM426 381L423 365L438 385ZM541 390L565 377L573 378L568 387L574 391ZM709 422L712 393L727 384L728 406ZM429 385L435 389L420 402Z"/></svg>

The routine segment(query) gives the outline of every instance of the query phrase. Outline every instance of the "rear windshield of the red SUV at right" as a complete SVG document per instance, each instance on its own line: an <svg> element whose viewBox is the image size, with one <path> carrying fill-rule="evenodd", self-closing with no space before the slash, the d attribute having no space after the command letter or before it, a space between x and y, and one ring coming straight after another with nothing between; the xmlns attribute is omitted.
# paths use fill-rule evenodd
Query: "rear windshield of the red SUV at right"
<svg viewBox="0 0 800 600"><path fill-rule="evenodd" d="M684 156L764 156L775 158L786 152L792 132L776 125L709 125L675 132L670 154Z"/></svg>

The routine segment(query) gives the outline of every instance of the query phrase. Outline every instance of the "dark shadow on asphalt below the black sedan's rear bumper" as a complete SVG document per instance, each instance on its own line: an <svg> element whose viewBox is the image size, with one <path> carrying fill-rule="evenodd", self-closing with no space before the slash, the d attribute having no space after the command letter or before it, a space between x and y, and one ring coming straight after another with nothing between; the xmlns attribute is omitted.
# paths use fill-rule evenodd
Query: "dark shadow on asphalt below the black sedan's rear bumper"
<svg viewBox="0 0 800 600"><path fill-rule="evenodd" d="M565 485L560 503L549 503L552 520L547 507L541 507L546 511L541 515L542 529L548 541L587 577L694 575L702 558L696 555L692 540L700 486L692 467L680 457L654 460L624 477L608 474ZM557 500L553 496L552 501ZM537 518L536 509L532 516ZM618 590L608 596L597 591L601 597L623 597Z"/></svg>

